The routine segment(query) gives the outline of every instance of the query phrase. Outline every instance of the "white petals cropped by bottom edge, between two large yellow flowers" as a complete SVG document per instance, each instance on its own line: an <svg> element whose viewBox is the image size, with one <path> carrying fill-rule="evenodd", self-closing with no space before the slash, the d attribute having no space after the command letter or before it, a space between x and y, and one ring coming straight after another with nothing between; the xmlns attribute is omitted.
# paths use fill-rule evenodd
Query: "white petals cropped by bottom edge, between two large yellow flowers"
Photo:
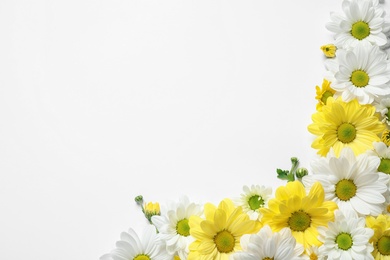
<svg viewBox="0 0 390 260"><path fill-rule="evenodd" d="M289 228L273 233L266 225L257 234L244 235L240 241L243 251L233 254L234 260L299 260L305 259L304 248L296 243Z"/></svg>

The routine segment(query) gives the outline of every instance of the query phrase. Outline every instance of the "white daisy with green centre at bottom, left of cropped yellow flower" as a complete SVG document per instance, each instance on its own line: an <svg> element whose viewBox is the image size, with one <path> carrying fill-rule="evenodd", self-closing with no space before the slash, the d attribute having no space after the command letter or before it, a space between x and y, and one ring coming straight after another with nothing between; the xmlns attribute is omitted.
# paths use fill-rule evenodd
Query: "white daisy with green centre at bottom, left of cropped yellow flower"
<svg viewBox="0 0 390 260"><path fill-rule="evenodd" d="M335 211L335 221L328 227L319 228L319 239L324 243L319 251L329 260L369 260L374 259L374 247L369 243L374 231L366 228L364 217L354 211Z"/></svg>

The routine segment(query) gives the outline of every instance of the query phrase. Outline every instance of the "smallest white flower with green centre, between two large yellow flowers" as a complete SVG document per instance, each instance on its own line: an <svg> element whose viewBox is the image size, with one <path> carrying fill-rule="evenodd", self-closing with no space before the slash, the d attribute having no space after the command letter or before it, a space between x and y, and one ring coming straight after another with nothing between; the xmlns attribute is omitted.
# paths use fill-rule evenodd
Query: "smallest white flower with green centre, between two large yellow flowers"
<svg viewBox="0 0 390 260"><path fill-rule="evenodd" d="M268 200L272 195L272 188L260 185L252 185L250 188L244 186L244 193L240 198L235 199L237 206L241 206L242 210L246 212L250 219L257 220L260 216L259 209L266 207Z"/></svg>

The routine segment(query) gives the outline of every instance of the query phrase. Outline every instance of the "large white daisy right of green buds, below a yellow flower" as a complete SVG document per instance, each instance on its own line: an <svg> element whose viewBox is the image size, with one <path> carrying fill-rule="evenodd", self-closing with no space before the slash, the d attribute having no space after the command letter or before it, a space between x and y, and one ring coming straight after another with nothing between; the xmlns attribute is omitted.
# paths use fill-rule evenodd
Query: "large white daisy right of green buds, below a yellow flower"
<svg viewBox="0 0 390 260"><path fill-rule="evenodd" d="M327 157L312 162L312 175L303 183L310 189L315 182L324 187L325 199L337 203L341 210L353 210L360 216L377 216L384 210L389 176L377 171L380 160L368 153L355 157L344 148L337 158L331 149Z"/></svg>

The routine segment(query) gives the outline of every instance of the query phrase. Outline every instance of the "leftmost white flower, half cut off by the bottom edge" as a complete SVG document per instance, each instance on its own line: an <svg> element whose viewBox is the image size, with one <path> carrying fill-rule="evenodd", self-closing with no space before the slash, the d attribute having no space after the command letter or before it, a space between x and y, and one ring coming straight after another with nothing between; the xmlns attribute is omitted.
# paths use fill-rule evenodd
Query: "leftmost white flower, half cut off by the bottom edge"
<svg viewBox="0 0 390 260"><path fill-rule="evenodd" d="M100 260L171 260L159 244L156 227L145 227L142 238L133 229L122 232L121 240L116 242L116 248L111 253L103 255Z"/></svg>

